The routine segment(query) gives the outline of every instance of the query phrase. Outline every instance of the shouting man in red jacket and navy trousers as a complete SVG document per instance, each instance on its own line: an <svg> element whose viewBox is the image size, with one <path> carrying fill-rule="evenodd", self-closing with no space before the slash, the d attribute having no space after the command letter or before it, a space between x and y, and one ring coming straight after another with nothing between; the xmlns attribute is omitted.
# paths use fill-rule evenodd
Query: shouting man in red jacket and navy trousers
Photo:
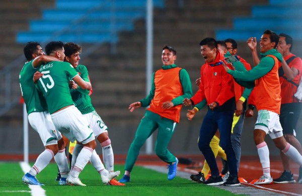
<svg viewBox="0 0 302 196"><path fill-rule="evenodd" d="M206 98L208 111L202 121L199 132L198 147L211 169L211 176L204 183L208 185L240 185L236 166L236 156L231 144L231 129L234 110L236 109L234 83L232 77L224 72L220 60L223 54L217 50L213 38L205 38L200 43L201 55L205 64L201 66L199 90L191 99L184 99L185 106L195 105ZM219 129L220 144L228 159L230 176L223 183L216 164L215 156L209 143Z"/></svg>

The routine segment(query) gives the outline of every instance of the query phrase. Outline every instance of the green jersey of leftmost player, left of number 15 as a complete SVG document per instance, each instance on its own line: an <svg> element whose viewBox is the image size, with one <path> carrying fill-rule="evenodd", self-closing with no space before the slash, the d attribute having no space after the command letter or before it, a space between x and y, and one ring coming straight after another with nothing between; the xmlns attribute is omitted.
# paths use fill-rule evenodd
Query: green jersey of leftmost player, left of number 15
<svg viewBox="0 0 302 196"><path fill-rule="evenodd" d="M20 72L19 82L27 114L48 110L45 98L37 91L33 76L38 69L33 67L33 60L26 62Z"/></svg>

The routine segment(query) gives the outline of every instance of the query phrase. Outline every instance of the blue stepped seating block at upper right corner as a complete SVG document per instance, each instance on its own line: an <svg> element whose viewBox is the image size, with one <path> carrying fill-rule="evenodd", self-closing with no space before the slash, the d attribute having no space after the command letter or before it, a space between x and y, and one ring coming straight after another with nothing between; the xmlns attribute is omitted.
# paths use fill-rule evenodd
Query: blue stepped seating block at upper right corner
<svg viewBox="0 0 302 196"><path fill-rule="evenodd" d="M301 10L300 0L269 0L269 5L252 6L250 16L235 17L232 29L217 29L216 37L233 37L235 40L246 41L247 37L259 39L265 29L271 29L278 34L289 34L296 41L302 41Z"/></svg>

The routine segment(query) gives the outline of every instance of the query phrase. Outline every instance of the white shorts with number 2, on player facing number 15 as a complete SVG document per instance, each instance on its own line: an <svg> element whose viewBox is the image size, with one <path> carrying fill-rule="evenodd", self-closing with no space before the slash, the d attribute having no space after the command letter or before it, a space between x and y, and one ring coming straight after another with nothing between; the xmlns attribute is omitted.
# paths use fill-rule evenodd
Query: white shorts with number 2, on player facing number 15
<svg viewBox="0 0 302 196"><path fill-rule="evenodd" d="M108 127L96 111L84 114L84 116L90 123L95 137L98 137L100 134L107 132Z"/></svg>

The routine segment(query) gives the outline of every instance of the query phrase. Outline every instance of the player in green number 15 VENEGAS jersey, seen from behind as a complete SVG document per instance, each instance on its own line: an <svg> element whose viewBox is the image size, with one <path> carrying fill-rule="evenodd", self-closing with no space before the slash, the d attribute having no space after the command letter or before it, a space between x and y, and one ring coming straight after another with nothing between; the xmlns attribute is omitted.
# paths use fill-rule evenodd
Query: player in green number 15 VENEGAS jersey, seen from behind
<svg viewBox="0 0 302 196"><path fill-rule="evenodd" d="M63 42L52 41L45 47L46 53L60 60L65 58ZM37 87L46 99L51 119L62 134L71 142L75 140L83 144L83 149L66 179L68 184L86 186L79 179L79 174L90 160L96 147L95 138L89 122L73 105L68 82L73 80L82 89L91 89L91 84L84 81L68 62L50 61L38 70L43 76L39 78ZM107 175L107 182L115 175Z"/></svg>

